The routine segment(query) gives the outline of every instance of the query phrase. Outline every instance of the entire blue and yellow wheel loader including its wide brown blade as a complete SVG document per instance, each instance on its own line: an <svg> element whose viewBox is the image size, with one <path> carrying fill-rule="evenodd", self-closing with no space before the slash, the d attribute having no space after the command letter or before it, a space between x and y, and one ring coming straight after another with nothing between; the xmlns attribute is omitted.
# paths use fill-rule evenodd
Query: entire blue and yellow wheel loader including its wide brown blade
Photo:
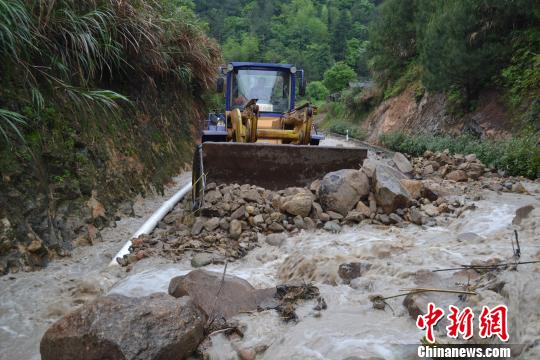
<svg viewBox="0 0 540 360"><path fill-rule="evenodd" d="M316 108L295 105L305 93L303 70L289 64L231 62L220 69L225 113L210 113L193 157L193 206L205 184L240 183L270 190L306 186L326 173L358 168L361 148L318 146Z"/></svg>

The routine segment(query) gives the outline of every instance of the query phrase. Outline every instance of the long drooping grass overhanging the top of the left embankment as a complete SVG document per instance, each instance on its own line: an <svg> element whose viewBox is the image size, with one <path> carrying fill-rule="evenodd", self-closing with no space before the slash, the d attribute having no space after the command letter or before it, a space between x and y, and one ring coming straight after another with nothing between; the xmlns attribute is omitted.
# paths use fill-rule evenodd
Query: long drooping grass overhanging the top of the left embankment
<svg viewBox="0 0 540 360"><path fill-rule="evenodd" d="M23 106L115 111L128 98L114 83L204 90L219 59L196 19L152 0L0 0L0 81L23 90L0 89L0 133L20 135Z"/></svg>

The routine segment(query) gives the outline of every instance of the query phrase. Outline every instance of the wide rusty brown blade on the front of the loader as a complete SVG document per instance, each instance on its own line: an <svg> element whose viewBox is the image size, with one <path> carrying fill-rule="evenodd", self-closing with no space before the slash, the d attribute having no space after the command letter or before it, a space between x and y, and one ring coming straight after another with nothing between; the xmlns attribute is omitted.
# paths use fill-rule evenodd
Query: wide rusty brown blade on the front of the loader
<svg viewBox="0 0 540 360"><path fill-rule="evenodd" d="M326 173L358 169L367 149L264 143L202 144L206 183L251 184L269 190L306 186Z"/></svg>

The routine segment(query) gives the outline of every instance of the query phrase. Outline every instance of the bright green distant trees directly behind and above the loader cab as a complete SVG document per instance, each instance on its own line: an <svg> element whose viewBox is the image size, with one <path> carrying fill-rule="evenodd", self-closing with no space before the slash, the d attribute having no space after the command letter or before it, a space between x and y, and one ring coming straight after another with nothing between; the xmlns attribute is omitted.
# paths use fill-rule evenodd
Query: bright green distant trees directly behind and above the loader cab
<svg viewBox="0 0 540 360"><path fill-rule="evenodd" d="M340 61L368 75L367 24L374 9L372 0L195 1L225 60L293 63L308 80L321 80Z"/></svg>

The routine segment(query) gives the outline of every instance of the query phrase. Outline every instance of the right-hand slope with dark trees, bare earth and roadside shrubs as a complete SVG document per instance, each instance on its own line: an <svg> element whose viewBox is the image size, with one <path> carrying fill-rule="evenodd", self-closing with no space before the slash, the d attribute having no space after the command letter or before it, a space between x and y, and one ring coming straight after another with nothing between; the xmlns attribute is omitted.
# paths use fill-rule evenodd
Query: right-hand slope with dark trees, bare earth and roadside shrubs
<svg viewBox="0 0 540 360"><path fill-rule="evenodd" d="M387 0L369 34L374 96L385 100L363 125L371 139L416 155L474 152L540 177L538 1Z"/></svg>

